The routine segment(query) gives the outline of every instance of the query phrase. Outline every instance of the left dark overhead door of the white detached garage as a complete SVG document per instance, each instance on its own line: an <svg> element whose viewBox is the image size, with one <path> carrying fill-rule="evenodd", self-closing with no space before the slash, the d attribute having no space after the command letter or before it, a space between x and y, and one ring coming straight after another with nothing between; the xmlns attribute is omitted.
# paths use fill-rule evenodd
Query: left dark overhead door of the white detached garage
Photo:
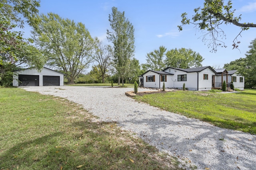
<svg viewBox="0 0 256 170"><path fill-rule="evenodd" d="M39 75L19 74L19 86L39 86Z"/></svg>

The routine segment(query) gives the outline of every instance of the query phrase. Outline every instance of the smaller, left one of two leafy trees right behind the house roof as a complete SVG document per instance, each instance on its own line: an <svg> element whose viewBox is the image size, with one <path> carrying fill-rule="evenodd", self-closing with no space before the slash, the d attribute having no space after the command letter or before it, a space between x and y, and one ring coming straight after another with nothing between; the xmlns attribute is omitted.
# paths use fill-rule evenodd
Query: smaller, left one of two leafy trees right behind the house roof
<svg viewBox="0 0 256 170"><path fill-rule="evenodd" d="M146 55L146 63L142 64L144 70L163 70L166 64L164 63L166 48L160 46Z"/></svg>

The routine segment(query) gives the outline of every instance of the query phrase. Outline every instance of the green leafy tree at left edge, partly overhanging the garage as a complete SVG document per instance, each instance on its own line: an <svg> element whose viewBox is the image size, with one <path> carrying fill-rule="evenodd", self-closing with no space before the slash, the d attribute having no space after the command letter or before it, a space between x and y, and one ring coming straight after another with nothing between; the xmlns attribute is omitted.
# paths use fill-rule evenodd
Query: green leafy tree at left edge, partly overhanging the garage
<svg viewBox="0 0 256 170"><path fill-rule="evenodd" d="M39 6L36 0L0 0L0 86L12 82L12 71L21 64L38 70L44 65L40 52L29 45L21 31L14 31L24 27L25 19L29 25L36 26Z"/></svg>

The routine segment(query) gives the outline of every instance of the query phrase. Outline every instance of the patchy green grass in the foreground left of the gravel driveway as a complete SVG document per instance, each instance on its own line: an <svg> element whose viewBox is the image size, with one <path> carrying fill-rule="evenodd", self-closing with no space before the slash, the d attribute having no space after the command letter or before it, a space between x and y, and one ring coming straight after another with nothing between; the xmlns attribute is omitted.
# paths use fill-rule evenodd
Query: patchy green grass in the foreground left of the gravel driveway
<svg viewBox="0 0 256 170"><path fill-rule="evenodd" d="M63 98L0 88L0 169L179 169L172 157ZM77 168L78 167L78 168Z"/></svg>

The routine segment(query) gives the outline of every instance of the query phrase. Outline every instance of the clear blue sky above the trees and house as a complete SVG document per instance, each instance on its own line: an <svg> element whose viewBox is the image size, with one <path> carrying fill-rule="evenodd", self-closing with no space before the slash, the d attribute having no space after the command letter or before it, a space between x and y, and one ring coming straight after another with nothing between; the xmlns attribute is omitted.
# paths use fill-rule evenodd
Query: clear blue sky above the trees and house
<svg viewBox="0 0 256 170"><path fill-rule="evenodd" d="M216 53L211 53L207 45L199 38L202 33L196 31L194 25L185 25L183 31L178 31L183 12L189 16L194 15L194 8L203 6L204 0L41 0L39 12L47 14L54 12L62 18L75 22L82 22L92 37L98 37L108 44L106 29L110 28L108 21L111 8L117 7L125 12L126 18L134 26L135 53L134 57L140 64L146 63L146 54L158 49L161 45L167 50L190 48L202 55L203 66L222 68L225 63L230 63L240 57L245 57L248 45L256 38L256 28L242 32L239 50L232 50L232 41L240 32L235 25L224 25L226 33L224 39L226 48L218 48ZM236 16L242 14L242 23L254 22L256 16L256 0L232 0L236 9ZM29 35L29 28L24 29L25 36Z"/></svg>

